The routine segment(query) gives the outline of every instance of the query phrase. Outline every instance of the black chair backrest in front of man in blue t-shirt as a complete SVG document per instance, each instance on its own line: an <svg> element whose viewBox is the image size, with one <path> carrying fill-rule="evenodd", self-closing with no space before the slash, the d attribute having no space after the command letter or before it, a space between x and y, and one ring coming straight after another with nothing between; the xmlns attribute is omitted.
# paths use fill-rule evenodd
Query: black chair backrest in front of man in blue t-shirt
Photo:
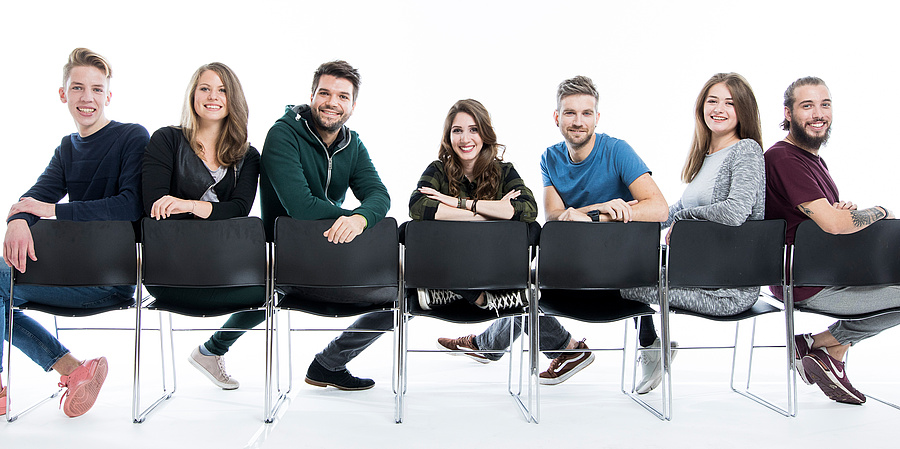
<svg viewBox="0 0 900 449"><path fill-rule="evenodd" d="M659 282L659 223L552 221L541 230L542 289L598 290Z"/></svg>

